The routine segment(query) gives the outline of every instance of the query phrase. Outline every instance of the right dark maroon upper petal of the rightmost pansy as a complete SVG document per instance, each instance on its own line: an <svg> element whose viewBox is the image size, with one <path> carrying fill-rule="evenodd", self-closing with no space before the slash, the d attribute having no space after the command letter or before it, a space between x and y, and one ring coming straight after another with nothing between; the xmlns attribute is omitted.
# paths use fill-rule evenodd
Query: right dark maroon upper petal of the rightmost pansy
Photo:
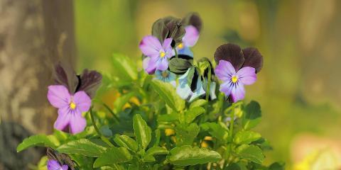
<svg viewBox="0 0 341 170"><path fill-rule="evenodd" d="M261 56L261 52L254 47L248 47L243 49L245 62L243 67L254 67L256 69L256 73L261 71L261 67L263 67L263 56Z"/></svg>

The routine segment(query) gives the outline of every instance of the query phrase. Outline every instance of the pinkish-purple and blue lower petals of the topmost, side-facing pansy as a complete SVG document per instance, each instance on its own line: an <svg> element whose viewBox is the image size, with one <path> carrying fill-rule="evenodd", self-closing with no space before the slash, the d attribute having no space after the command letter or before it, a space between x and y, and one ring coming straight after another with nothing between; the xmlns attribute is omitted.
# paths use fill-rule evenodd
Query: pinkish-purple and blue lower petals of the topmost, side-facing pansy
<svg viewBox="0 0 341 170"><path fill-rule="evenodd" d="M179 55L188 55L193 57L193 52L190 50L190 47L193 47L197 43L197 39L199 38L199 31L195 26L186 26L186 33L183 36L183 42L181 42L177 47Z"/></svg>

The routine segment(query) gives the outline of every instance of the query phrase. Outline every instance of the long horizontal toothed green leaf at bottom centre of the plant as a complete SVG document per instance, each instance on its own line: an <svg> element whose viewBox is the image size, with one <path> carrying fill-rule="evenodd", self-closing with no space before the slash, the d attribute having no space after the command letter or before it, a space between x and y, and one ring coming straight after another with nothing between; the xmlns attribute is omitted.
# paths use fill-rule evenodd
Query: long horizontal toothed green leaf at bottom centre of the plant
<svg viewBox="0 0 341 170"><path fill-rule="evenodd" d="M195 164L206 164L208 162L217 162L222 157L215 151L191 147L185 145L183 147L175 147L171 149L170 154L168 154L168 160L172 164L180 166L188 166Z"/></svg>

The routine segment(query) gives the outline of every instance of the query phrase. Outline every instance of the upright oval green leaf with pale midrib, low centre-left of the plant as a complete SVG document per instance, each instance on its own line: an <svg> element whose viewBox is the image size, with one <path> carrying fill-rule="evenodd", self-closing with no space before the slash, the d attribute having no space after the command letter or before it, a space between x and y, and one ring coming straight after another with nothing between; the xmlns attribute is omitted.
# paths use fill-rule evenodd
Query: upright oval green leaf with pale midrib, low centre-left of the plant
<svg viewBox="0 0 341 170"><path fill-rule="evenodd" d="M145 149L149 142L151 142L151 128L148 127L146 121L138 114L134 115L133 128L137 142Z"/></svg>

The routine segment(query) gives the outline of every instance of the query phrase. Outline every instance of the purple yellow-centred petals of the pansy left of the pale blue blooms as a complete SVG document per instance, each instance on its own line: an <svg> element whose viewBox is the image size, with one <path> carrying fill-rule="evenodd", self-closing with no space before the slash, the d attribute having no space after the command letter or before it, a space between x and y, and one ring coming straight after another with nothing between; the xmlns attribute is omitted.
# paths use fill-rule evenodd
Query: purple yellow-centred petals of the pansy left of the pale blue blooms
<svg viewBox="0 0 341 170"><path fill-rule="evenodd" d="M155 70L164 71L168 69L168 58L173 56L171 47L172 38L166 38L161 45L158 38L147 35L140 42L140 49L147 57L144 59L144 69L148 74L153 74Z"/></svg>

